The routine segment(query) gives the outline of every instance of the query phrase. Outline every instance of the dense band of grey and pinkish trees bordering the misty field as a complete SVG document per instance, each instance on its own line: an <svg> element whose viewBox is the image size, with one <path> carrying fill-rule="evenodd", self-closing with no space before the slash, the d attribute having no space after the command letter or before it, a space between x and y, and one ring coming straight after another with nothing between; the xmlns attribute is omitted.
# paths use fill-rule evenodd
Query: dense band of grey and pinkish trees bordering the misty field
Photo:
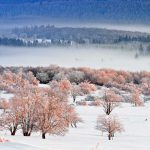
<svg viewBox="0 0 150 150"><path fill-rule="evenodd" d="M20 67L0 67L0 73L10 70L17 73ZM112 69L91 68L62 68L51 65L49 67L24 67L25 73L31 71L40 83L47 84L53 80L69 80L71 83L80 84L88 81L97 86L116 88L128 92L133 89L141 91L144 95L150 95L150 72L116 71Z"/></svg>

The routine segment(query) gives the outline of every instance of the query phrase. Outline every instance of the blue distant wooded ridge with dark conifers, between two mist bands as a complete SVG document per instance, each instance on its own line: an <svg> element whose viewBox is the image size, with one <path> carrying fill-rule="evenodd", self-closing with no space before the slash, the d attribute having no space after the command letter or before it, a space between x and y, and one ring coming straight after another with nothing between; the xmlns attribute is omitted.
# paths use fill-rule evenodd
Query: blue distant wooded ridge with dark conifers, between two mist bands
<svg viewBox="0 0 150 150"><path fill-rule="evenodd" d="M14 28L11 33L0 36L0 45L5 46L72 46L101 44L139 43L149 49L150 34L99 28L71 28L55 26L31 26Z"/></svg>

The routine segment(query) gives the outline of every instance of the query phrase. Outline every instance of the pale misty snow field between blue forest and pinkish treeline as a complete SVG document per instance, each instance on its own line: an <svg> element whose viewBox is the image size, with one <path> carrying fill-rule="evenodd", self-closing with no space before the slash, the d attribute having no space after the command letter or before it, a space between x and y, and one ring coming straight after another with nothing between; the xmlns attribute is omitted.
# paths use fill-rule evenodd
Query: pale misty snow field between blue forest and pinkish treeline
<svg viewBox="0 0 150 150"><path fill-rule="evenodd" d="M0 47L2 66L49 66L113 68L117 70L150 70L150 56L135 59L135 51L89 48L17 48Z"/></svg>

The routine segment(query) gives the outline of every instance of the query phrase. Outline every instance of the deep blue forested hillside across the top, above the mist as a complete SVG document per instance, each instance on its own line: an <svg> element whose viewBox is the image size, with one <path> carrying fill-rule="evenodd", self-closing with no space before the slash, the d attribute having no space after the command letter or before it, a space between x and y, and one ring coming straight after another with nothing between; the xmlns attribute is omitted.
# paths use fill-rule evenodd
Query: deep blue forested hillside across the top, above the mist
<svg viewBox="0 0 150 150"><path fill-rule="evenodd" d="M0 17L150 23L148 0L0 0Z"/></svg>

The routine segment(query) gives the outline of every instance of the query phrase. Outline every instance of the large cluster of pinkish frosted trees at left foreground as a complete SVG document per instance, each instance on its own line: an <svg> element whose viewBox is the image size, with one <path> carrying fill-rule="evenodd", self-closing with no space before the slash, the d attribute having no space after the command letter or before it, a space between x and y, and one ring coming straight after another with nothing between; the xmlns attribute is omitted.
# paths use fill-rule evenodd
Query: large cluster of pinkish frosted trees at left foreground
<svg viewBox="0 0 150 150"><path fill-rule="evenodd" d="M1 86L9 87L14 93L0 117L0 126L8 129L11 135L19 129L24 136L40 131L45 139L47 133L64 135L69 125L76 126L81 121L68 103L71 88L68 80L53 81L49 88L40 88L31 73L17 75L7 72L1 78Z"/></svg>

